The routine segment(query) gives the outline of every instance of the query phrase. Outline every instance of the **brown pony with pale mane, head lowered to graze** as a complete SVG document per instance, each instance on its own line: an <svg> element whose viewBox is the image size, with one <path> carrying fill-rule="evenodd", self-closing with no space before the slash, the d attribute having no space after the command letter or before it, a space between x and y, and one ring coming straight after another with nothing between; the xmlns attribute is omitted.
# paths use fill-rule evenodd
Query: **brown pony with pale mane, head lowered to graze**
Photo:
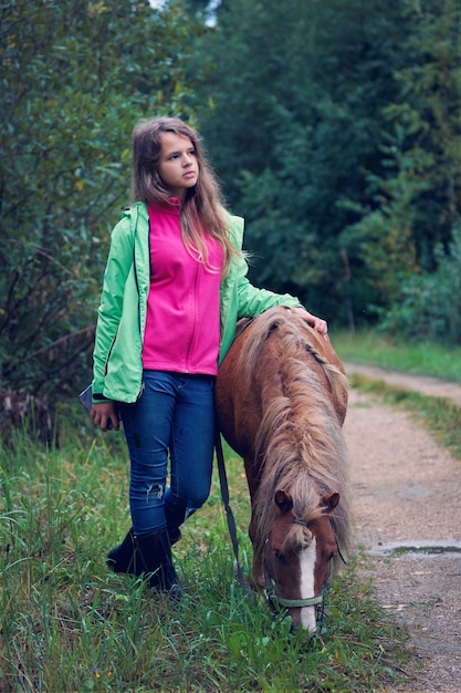
<svg viewBox="0 0 461 693"><path fill-rule="evenodd" d="M314 631L349 537L343 364L303 318L274 308L240 321L216 397L220 430L244 461L254 581L293 627Z"/></svg>

